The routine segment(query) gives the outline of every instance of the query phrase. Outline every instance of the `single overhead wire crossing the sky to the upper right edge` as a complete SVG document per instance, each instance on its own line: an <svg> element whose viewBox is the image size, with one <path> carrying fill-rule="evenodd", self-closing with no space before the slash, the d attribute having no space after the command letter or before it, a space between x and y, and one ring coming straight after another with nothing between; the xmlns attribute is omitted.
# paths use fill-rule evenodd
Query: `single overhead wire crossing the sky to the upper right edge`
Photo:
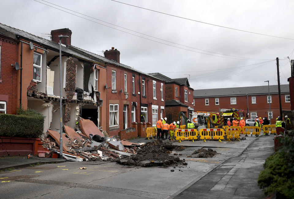
<svg viewBox="0 0 294 199"><path fill-rule="evenodd" d="M163 13L163 12L159 12L159 11L156 11L156 10L147 9L147 8L143 8L143 7L139 7L139 6L134 6L134 5L131 5L131 4L127 4L127 3L123 3L123 2L119 2L119 1L115 1L115 0L111 0L111 1L118 2L118 3L122 3L122 4L126 4L126 5L128 5L128 6L133 6L133 7L137 7L137 8L141 8L141 9L149 10L149 11L156 12L156 13L161 13L161 14L169 15L169 16L172 16L172 17L178 17L178 18L181 18L181 19L187 19L187 20L190 20L190 21L196 21L196 22L203 23L203 24L209 24L209 25L213 25L213 26L217 26L217 27L221 27L221 28L228 28L228 29L231 29L231 30L237 30L237 31L242 31L242 32L248 32L248 33L253 33L253 34L257 34L257 35L263 35L263 36L276 37L276 38L281 38L281 39L291 39L291 40L294 40L294 39L292 39L292 38L279 37L279 36L273 36L273 35L266 35L266 34L257 33L257 32L250 32L250 31L246 31L246 30L241 30L241 29L236 29L236 28L230 28L230 27L221 26L221 25L216 25L216 24L210 24L210 23L207 23L207 22L197 21L197 20L189 19L189 18L185 18L185 17L179 17L179 16L176 16L176 15L172 15L172 14L168 14L168 13Z"/></svg>

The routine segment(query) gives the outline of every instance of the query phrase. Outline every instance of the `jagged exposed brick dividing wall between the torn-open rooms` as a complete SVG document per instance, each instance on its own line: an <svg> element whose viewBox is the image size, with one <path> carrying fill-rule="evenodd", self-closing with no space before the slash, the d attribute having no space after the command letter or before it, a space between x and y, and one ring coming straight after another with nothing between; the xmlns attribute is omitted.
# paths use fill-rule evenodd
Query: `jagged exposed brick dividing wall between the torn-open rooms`
<svg viewBox="0 0 294 199"><path fill-rule="evenodd" d="M66 60L66 105L64 107L64 122L70 121L70 101L73 99L76 90L76 78L77 78L77 65L74 63L73 58L69 57Z"/></svg>

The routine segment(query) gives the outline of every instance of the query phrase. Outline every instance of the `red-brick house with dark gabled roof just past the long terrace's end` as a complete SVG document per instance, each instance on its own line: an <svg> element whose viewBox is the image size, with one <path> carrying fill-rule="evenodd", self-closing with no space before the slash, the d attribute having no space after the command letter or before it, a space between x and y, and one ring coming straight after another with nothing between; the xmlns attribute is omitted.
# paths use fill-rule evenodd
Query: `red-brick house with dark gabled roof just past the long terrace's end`
<svg viewBox="0 0 294 199"><path fill-rule="evenodd" d="M165 114L168 122L177 121L179 112L182 111L188 118L194 112L193 91L188 79L178 78L171 79L161 73L149 73L165 81Z"/></svg>

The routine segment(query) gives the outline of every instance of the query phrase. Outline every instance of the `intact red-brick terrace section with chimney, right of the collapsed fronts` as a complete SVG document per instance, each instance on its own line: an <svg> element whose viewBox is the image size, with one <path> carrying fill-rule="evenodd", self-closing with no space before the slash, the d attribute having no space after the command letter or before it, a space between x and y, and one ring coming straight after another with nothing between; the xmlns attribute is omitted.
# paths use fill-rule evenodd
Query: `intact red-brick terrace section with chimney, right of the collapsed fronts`
<svg viewBox="0 0 294 199"><path fill-rule="evenodd" d="M152 126L164 115L164 81L119 62L120 52L104 52L107 63L107 132L119 135L133 122Z"/></svg>

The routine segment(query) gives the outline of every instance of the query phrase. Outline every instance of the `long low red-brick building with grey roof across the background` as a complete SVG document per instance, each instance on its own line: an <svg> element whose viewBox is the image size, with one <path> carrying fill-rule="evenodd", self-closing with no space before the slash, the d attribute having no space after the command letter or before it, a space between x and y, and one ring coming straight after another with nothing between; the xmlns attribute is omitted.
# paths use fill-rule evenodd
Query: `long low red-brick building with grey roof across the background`
<svg viewBox="0 0 294 199"><path fill-rule="evenodd" d="M271 119L272 124L275 122L275 118L280 115L277 85L270 85L269 90L267 85L194 90L194 101L194 109L197 111L218 112L222 108L243 109L247 113L247 118L256 118L256 116L273 118ZM281 101L282 110L289 111L288 84L281 85Z"/></svg>

